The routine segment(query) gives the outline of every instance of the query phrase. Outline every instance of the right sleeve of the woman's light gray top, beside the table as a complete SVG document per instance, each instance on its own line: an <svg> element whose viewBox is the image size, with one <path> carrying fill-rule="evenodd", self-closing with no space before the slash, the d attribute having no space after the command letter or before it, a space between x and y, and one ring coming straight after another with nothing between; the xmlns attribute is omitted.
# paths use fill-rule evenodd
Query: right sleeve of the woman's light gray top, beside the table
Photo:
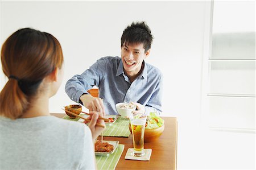
<svg viewBox="0 0 256 170"><path fill-rule="evenodd" d="M92 132L89 127L84 125L84 150L81 156L81 167L79 169L96 169L95 167L95 154L94 154L94 143L92 140Z"/></svg>

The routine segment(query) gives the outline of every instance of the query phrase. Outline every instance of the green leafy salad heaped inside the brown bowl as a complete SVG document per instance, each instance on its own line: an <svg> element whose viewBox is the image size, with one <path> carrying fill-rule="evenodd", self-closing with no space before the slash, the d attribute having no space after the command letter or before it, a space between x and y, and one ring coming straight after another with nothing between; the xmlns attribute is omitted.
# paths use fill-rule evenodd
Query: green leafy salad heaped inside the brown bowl
<svg viewBox="0 0 256 170"><path fill-rule="evenodd" d="M158 128L163 126L164 120L160 118L156 113L150 113L147 117L146 129Z"/></svg>

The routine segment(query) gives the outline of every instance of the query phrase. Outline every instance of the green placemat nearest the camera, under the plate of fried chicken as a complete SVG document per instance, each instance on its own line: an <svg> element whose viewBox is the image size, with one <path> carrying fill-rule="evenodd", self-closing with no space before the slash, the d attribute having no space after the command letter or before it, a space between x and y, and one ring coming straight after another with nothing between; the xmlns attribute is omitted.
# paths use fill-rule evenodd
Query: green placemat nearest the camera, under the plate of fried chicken
<svg viewBox="0 0 256 170"><path fill-rule="evenodd" d="M98 170L115 169L124 148L124 144L118 144L118 148L113 154L110 154L109 156L96 156Z"/></svg>

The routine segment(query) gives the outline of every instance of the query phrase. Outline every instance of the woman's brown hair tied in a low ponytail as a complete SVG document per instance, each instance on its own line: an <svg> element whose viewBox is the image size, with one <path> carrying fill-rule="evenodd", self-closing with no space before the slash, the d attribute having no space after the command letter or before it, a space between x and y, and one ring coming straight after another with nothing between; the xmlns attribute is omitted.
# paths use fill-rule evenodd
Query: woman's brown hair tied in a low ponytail
<svg viewBox="0 0 256 170"><path fill-rule="evenodd" d="M63 53L51 34L23 28L3 43L1 61L9 81L0 93L0 114L16 119L29 108L43 78L61 68Z"/></svg>

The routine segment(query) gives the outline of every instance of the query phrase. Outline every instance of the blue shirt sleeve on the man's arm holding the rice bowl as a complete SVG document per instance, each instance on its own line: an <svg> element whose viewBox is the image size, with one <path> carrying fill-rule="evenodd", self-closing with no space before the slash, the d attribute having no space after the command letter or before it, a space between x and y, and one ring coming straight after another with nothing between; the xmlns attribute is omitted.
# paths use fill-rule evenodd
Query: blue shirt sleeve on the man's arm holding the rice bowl
<svg viewBox="0 0 256 170"><path fill-rule="evenodd" d="M147 115L150 114L151 112L155 112L158 115L162 113L162 93L163 93L163 76L162 76L162 73L160 73L158 84L156 85L155 91L145 106L145 113Z"/></svg>

